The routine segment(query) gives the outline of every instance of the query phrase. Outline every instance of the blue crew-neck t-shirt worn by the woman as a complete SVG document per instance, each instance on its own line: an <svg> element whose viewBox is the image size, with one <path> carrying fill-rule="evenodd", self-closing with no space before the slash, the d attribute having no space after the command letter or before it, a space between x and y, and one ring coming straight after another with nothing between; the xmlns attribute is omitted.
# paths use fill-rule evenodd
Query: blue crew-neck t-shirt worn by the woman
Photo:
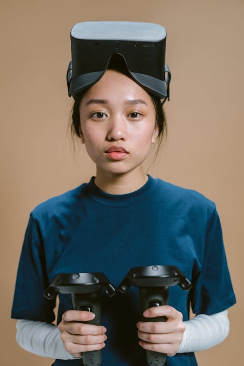
<svg viewBox="0 0 244 366"><path fill-rule="evenodd" d="M53 322L55 301L43 293L60 273L103 272L118 286L131 267L175 265L192 282L190 291L169 288L169 305L188 320L235 304L215 204L203 195L148 177L139 190L111 195L89 183L38 205L30 215L22 247L12 317ZM108 339L102 365L144 366L138 345L138 288L102 295L102 325ZM60 294L57 323L72 309ZM81 366L56 360L55 366ZM166 366L195 366L193 353L167 357Z"/></svg>

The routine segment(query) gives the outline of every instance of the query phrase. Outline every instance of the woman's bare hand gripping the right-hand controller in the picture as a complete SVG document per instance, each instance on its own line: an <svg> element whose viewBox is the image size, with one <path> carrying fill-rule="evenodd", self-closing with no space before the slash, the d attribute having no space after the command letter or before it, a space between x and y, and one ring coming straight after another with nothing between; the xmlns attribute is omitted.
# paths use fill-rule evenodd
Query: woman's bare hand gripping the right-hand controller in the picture
<svg viewBox="0 0 244 366"><path fill-rule="evenodd" d="M143 316L166 316L167 321L137 323L138 337L142 340L139 344L142 348L174 356L179 350L185 331L182 313L172 306L162 305L150 307L144 311Z"/></svg>

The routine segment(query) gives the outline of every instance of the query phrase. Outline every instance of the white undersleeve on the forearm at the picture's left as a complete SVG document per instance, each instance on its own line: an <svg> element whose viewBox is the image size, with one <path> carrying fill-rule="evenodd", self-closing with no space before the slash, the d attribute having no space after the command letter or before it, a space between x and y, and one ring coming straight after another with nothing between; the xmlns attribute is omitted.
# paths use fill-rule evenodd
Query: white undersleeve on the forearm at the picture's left
<svg viewBox="0 0 244 366"><path fill-rule="evenodd" d="M64 348L57 325L21 319L16 328L16 340L26 351L42 357L74 360Z"/></svg>

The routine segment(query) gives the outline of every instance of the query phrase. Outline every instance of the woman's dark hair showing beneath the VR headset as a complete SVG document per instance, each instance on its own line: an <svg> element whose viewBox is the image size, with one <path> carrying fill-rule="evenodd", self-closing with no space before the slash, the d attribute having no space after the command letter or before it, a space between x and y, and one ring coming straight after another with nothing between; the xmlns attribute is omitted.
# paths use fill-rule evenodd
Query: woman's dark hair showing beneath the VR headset
<svg viewBox="0 0 244 366"><path fill-rule="evenodd" d="M113 55L112 58L109 61L109 65L107 69L113 69L116 71L121 72L122 74L130 77L130 74L128 72L126 63L124 61L124 59L120 56L120 55ZM86 89L87 90L87 89ZM84 95L84 93L86 92L82 91L80 94L78 94L75 98L75 102L73 104L73 108L71 110L71 133L73 138L76 137L80 137L80 102L81 99ZM148 95L150 96L153 105L155 107L155 111L156 111L156 123L158 125L159 128L159 133L158 133L158 149L157 152L161 146L162 141L166 138L167 136L167 124L166 124L166 118L164 115L164 111L163 111L163 105L162 105L162 101L160 100L160 98L156 97L155 95L151 94L150 92L148 92Z"/></svg>

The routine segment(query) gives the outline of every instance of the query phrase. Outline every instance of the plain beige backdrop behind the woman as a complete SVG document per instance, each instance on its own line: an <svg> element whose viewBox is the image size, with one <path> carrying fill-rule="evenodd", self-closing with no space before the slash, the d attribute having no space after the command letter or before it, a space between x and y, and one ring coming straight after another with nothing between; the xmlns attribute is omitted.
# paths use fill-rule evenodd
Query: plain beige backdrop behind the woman
<svg viewBox="0 0 244 366"><path fill-rule="evenodd" d="M15 342L10 309L29 212L88 181L94 166L69 145L69 32L88 20L160 23L172 71L169 138L150 174L215 201L238 304L223 344L199 365L243 365L244 1L1 0L0 365L51 365Z"/></svg>

